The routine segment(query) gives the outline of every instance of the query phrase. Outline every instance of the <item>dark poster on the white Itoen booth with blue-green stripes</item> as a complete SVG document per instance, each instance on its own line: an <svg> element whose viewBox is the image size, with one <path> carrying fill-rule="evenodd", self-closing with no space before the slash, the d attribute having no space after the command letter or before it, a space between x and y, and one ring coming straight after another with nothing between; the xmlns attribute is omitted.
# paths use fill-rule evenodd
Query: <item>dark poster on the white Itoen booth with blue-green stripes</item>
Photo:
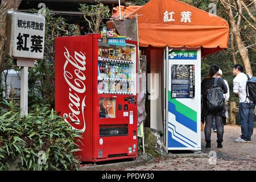
<svg viewBox="0 0 256 182"><path fill-rule="evenodd" d="M172 65L172 98L195 97L195 65Z"/></svg>

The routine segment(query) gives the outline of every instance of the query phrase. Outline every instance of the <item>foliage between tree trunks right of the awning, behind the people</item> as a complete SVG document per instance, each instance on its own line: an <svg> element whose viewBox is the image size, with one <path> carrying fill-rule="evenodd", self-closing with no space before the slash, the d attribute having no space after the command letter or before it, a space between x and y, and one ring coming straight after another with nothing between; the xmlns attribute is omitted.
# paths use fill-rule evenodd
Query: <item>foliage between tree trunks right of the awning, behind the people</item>
<svg viewBox="0 0 256 182"><path fill-rule="evenodd" d="M180 0L182 2L188 3L189 5L195 6L201 10L209 12L211 7L209 7L210 3L216 3L217 7L217 15L221 18L224 18L225 20L229 21L228 14L226 13L226 10L222 6L221 2L218 0L198 0L198 1L192 1L192 0ZM234 3L233 3L234 2ZM249 5L249 1L243 1L246 3L246 5ZM230 1L232 5L236 6L235 1ZM248 7L251 11L251 13L255 16L256 10L254 9L254 6L251 5ZM237 14L237 11L234 10L234 16ZM243 15L250 20L250 17L247 13L245 13L245 10L243 10ZM236 16L235 20L237 21L238 16ZM230 34L231 35L231 32ZM253 70L253 75L256 75L256 36L255 36L255 30L249 26L247 22L242 18L241 20L241 38L243 40L243 43L248 47L249 52L249 58L251 63L251 68ZM252 45L252 46L251 46ZM240 53L238 52L238 48L236 45L236 42L234 41L234 52L236 52L236 61L239 64L243 65L243 61L241 59ZM236 101L238 103L238 98L234 96L232 90L233 90L233 75L232 75L232 66L234 65L233 55L232 55L232 48L231 48L231 40L229 36L229 47L225 51L221 51L218 53L214 53L213 55L207 56L204 59L202 59L201 64L201 76L202 78L208 76L209 73L209 67L212 64L217 64L220 69L222 69L223 72L223 78L228 81L229 83L229 90L230 90L230 101Z"/></svg>

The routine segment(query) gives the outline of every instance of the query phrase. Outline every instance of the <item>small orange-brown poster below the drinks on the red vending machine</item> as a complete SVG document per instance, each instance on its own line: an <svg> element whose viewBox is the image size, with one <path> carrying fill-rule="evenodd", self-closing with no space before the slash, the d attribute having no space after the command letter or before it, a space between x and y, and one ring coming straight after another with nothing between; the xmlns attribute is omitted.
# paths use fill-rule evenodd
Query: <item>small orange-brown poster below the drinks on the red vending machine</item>
<svg viewBox="0 0 256 182"><path fill-rule="evenodd" d="M115 118L115 98L100 98L100 118Z"/></svg>

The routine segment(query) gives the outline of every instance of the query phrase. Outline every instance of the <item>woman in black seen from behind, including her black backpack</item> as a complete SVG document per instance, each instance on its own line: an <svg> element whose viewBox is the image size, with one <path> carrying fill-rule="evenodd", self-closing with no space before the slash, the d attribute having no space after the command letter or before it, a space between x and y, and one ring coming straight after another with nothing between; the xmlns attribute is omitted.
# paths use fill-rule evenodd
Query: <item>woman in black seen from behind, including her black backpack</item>
<svg viewBox="0 0 256 182"><path fill-rule="evenodd" d="M228 92L225 82L218 78L219 68L216 64L212 65L209 70L209 76L201 81L201 94L203 95L202 115L205 117L205 148L210 148L210 135L213 124L213 117L217 125L217 147L222 148L224 125L221 116L225 115L225 98L224 93Z"/></svg>

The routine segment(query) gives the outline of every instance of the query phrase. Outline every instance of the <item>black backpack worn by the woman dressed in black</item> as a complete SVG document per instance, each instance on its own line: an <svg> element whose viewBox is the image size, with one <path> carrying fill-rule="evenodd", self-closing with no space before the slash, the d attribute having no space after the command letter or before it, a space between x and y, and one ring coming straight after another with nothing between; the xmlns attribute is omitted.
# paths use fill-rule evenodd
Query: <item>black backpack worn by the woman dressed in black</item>
<svg viewBox="0 0 256 182"><path fill-rule="evenodd" d="M205 92L205 101L210 111L222 110L225 106L223 90L217 85L218 78L215 78L214 85Z"/></svg>

